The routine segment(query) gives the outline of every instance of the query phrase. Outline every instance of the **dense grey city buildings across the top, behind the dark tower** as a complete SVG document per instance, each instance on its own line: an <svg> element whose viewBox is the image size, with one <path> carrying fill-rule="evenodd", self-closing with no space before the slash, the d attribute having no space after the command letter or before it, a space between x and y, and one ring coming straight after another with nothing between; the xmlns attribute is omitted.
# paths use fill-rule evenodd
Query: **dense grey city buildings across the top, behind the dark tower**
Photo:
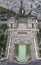
<svg viewBox="0 0 41 65"><path fill-rule="evenodd" d="M20 1L21 0L0 0L0 6L13 10L15 12L19 12ZM35 8L39 4L39 0L23 0L23 7L26 13L28 12L28 9L31 9L31 5L33 8Z"/></svg>

